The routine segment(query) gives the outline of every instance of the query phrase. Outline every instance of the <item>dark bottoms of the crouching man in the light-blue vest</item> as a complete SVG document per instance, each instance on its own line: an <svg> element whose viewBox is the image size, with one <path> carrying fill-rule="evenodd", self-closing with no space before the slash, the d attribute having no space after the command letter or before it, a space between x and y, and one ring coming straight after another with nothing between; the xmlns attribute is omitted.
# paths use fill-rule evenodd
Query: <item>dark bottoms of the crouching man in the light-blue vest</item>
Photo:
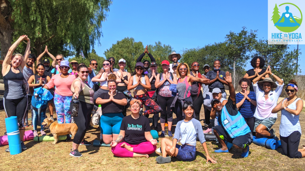
<svg viewBox="0 0 305 171"><path fill-rule="evenodd" d="M250 145L253 141L252 132L249 132L246 135L238 136L236 138L231 138L230 135L227 133L227 131L225 131L224 128L220 125L215 126L214 130L217 131L221 139L223 139L224 141L228 141L232 144L235 144L241 148L245 148L246 145Z"/></svg>

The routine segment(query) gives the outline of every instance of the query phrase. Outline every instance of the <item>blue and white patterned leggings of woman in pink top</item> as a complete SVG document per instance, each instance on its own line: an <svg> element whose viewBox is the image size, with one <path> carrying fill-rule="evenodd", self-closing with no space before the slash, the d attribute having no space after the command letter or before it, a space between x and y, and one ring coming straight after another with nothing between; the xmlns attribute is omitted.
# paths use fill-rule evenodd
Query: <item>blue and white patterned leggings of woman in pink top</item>
<svg viewBox="0 0 305 171"><path fill-rule="evenodd" d="M72 96L60 96L59 94L55 93L54 105L56 108L57 122L59 124L71 123L71 111L70 111L71 100L72 100ZM66 120L64 119L64 116L66 116Z"/></svg>

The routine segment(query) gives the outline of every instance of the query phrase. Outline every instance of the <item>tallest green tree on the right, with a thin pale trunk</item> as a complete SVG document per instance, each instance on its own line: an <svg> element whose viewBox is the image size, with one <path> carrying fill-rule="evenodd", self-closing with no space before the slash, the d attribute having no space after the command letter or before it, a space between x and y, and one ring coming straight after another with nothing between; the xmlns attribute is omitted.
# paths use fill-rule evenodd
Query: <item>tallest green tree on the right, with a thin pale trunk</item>
<svg viewBox="0 0 305 171"><path fill-rule="evenodd" d="M243 26L240 33L235 33L230 31L226 35L226 44L227 44L227 55L228 58L233 60L233 85L236 85L236 65L245 67L246 61L249 60L250 54L253 50L255 43L257 42L257 30L246 30L246 27ZM232 64L232 63L231 63ZM236 87L235 87L236 88Z"/></svg>

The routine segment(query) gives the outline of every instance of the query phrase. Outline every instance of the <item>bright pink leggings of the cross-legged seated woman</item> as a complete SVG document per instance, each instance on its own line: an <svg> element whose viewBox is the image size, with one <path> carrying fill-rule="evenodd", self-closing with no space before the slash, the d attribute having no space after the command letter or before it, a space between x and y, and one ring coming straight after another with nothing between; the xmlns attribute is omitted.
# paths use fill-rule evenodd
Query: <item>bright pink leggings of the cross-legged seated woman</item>
<svg viewBox="0 0 305 171"><path fill-rule="evenodd" d="M111 148L112 153L115 156L118 157L133 157L133 153L140 153L140 154L151 154L153 152L156 151L157 146L156 145L152 145L150 142L146 141L146 142L142 142L138 145L130 145L131 147L133 147L133 152L128 151L126 148L121 147L121 145L123 143L128 144L127 142L121 142L119 143L117 146Z"/></svg>

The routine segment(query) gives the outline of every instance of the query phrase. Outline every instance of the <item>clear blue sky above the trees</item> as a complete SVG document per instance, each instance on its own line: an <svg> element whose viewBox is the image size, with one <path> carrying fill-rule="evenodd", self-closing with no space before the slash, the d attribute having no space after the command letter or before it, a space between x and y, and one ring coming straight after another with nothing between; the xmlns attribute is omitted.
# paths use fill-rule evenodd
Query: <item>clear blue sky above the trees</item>
<svg viewBox="0 0 305 171"><path fill-rule="evenodd" d="M204 47L224 41L229 31L240 32L242 26L258 30L259 39L267 38L267 0L256 1L124 1L114 0L102 23L101 46L104 56L117 40L133 37L144 45L169 44L176 52L183 48ZM290 45L296 48L296 45ZM305 75L305 45L299 45L302 75ZM249 64L247 69L252 68Z"/></svg>

